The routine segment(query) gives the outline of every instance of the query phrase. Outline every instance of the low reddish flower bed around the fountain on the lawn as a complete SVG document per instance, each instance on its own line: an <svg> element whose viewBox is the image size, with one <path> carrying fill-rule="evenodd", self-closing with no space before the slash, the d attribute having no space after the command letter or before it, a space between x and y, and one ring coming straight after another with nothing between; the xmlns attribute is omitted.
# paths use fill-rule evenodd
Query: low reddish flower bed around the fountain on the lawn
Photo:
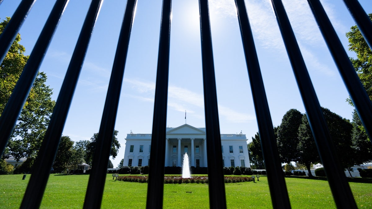
<svg viewBox="0 0 372 209"><path fill-rule="evenodd" d="M139 182L147 183L147 176L119 176L119 181L130 181L130 182ZM242 177L242 176L225 176L225 183L237 183L252 181L251 177ZM181 178L180 176L166 176L164 177L164 184L187 184L187 183L202 183L208 184L208 177L206 176L193 176L192 178Z"/></svg>

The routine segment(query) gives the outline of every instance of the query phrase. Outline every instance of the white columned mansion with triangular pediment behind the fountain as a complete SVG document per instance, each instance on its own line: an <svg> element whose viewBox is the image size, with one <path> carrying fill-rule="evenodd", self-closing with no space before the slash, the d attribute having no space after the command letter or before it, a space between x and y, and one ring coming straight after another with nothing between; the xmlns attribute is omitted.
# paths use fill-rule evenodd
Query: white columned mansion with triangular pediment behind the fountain
<svg viewBox="0 0 372 209"><path fill-rule="evenodd" d="M165 166L182 167L183 155L187 152L190 166L207 167L205 128L188 124L166 129ZM151 134L126 136L124 166L145 166L150 163ZM222 160L224 167L250 167L247 138L245 134L221 134Z"/></svg>

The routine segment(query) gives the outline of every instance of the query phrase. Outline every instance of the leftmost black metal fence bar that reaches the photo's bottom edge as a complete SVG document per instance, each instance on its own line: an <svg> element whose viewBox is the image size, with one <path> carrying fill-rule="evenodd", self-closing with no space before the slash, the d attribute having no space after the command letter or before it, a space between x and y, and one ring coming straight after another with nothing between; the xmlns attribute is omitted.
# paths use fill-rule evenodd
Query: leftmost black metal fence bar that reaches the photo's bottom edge
<svg viewBox="0 0 372 209"><path fill-rule="evenodd" d="M100 1L96 1L95 3L96 4L92 2L81 29L47 132L45 133L41 149L33 165L33 175L30 178L21 207L29 208L33 206L37 208L41 203L88 47L90 35L92 34L93 26L100 8Z"/></svg>

